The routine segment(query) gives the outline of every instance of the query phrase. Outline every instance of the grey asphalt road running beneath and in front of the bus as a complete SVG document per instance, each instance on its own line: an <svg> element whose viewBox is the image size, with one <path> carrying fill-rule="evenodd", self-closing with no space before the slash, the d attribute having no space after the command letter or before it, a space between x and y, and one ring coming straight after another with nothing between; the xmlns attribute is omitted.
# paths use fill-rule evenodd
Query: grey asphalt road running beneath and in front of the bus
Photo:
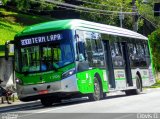
<svg viewBox="0 0 160 119"><path fill-rule="evenodd" d="M117 95L118 94L118 95ZM143 119L160 118L160 89L147 90L140 95L126 96L124 93L111 94L104 100L89 102L87 98L63 101L51 107L41 104L12 110L2 117L18 119Z"/></svg>

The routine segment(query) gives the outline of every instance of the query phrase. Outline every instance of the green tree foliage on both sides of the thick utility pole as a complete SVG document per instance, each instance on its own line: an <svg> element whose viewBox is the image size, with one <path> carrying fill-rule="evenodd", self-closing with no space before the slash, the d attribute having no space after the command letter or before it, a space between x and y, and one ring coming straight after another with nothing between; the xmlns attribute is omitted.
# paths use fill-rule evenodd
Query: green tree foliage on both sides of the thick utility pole
<svg viewBox="0 0 160 119"><path fill-rule="evenodd" d="M87 2L97 3L97 4L85 3L83 5L84 7L106 10L106 12L108 11L108 13L100 14L98 10L95 11L95 13L81 12L81 18L115 26L120 26L119 14L117 12L120 12L121 10L123 12L132 12L133 9L131 3L132 0L88 0ZM102 6L102 4L105 6ZM145 18L147 18L149 21L155 23L156 25L160 25L160 17L154 17L153 5L154 5L153 0L148 0L147 4L144 4L143 0L136 0L136 8L137 8L136 11L140 15L143 15ZM110 13L109 11L117 11L117 12ZM139 32L141 32L141 27L143 26L143 19L141 18L142 17L139 16L138 19ZM125 14L123 20L123 27L127 29L133 29L132 19L133 16L131 13Z"/></svg>

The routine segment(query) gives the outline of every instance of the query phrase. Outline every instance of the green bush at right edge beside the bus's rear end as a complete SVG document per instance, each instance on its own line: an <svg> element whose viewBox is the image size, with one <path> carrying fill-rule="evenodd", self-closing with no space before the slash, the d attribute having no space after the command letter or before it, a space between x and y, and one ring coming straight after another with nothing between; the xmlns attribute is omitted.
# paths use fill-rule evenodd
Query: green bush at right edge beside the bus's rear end
<svg viewBox="0 0 160 119"><path fill-rule="evenodd" d="M152 53L153 66L156 71L160 71L160 29L149 36Z"/></svg>

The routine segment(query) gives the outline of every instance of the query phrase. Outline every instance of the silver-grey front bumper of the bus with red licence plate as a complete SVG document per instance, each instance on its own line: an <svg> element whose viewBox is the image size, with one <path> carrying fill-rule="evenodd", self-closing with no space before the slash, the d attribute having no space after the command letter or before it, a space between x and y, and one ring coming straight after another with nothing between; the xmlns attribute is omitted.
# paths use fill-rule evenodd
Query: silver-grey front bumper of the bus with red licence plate
<svg viewBox="0 0 160 119"><path fill-rule="evenodd" d="M17 85L17 94L20 100L36 100L45 96L57 96L58 94L77 92L76 75L62 79L56 82L35 84L35 85Z"/></svg>

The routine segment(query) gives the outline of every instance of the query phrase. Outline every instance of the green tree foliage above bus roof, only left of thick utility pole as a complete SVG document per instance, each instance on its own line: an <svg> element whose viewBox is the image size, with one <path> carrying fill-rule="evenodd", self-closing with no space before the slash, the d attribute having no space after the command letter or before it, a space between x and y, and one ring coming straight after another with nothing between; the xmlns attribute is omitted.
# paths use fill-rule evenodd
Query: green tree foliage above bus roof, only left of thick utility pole
<svg viewBox="0 0 160 119"><path fill-rule="evenodd" d="M120 26L119 13L132 12L131 0L88 0L92 3L85 3L84 7L106 10L101 14L98 10L95 13L81 12L81 17L90 21L101 22L105 24ZM98 5L101 4L101 5ZM105 6L102 6L105 5ZM113 12L110 12L113 11ZM132 14L124 14L123 27L132 29Z"/></svg>

